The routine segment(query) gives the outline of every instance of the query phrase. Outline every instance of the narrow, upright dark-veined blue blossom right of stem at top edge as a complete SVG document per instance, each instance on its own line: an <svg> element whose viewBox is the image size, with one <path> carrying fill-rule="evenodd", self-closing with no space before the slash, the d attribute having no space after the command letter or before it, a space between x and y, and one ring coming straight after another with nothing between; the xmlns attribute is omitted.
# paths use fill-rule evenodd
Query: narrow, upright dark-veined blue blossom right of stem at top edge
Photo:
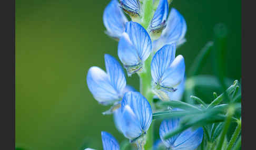
<svg viewBox="0 0 256 150"><path fill-rule="evenodd" d="M168 7L169 4L167 0L160 0L149 26L152 39L157 39L165 28L166 19L169 13Z"/></svg>

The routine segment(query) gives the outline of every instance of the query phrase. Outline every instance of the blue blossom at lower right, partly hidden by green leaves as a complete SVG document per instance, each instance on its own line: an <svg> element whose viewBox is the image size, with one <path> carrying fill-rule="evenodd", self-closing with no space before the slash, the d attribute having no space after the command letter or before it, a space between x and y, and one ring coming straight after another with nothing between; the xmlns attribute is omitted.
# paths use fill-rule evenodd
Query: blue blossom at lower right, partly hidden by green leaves
<svg viewBox="0 0 256 150"><path fill-rule="evenodd" d="M196 130L188 128L180 134L174 135L167 140L164 140L166 133L174 131L180 123L179 118L173 118L169 120L164 120L159 129L159 134L164 145L172 150L194 150L198 147L203 139L203 128L199 127Z"/></svg>

